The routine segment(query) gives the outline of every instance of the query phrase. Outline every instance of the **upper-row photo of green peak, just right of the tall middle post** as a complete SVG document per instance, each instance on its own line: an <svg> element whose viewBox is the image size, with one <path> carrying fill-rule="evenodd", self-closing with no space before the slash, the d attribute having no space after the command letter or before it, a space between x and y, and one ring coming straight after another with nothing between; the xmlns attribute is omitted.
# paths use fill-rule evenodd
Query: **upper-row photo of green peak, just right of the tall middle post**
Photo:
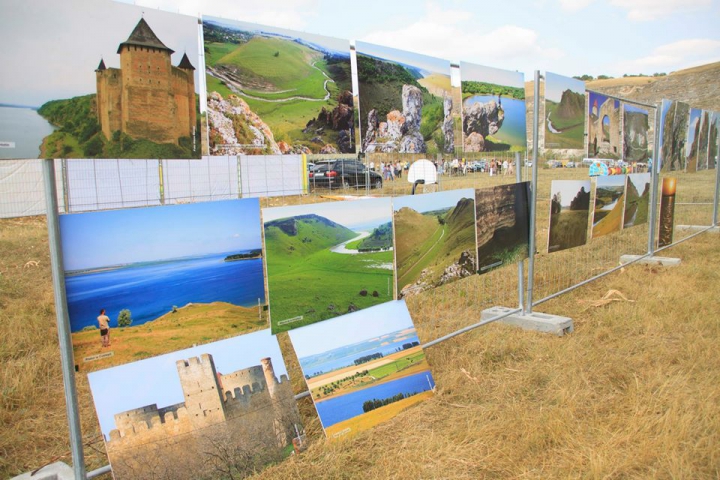
<svg viewBox="0 0 720 480"><path fill-rule="evenodd" d="M585 148L585 83L545 73L545 148Z"/></svg>

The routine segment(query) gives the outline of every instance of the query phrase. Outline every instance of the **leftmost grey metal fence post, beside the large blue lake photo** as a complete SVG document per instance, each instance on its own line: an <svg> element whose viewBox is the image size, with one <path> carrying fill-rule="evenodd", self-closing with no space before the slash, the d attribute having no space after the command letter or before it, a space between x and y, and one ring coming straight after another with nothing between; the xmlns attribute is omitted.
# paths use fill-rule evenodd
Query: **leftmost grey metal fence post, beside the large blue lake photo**
<svg viewBox="0 0 720 480"><path fill-rule="evenodd" d="M45 183L45 208L50 248L53 291L55 293L55 315L60 343L60 363L65 388L65 405L70 428L70 450L72 452L75 478L85 479L85 456L83 454L80 415L75 388L74 356L70 320L68 319L67 299L65 297L65 274L63 272L62 250L60 248L60 222L58 217L57 187L55 185L55 161L43 160L43 180Z"/></svg>

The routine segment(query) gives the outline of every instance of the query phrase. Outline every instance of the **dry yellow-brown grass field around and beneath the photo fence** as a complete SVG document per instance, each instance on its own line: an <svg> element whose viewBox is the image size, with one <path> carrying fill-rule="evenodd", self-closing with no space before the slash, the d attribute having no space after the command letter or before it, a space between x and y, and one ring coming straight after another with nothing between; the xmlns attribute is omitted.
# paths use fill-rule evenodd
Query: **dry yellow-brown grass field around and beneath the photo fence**
<svg viewBox="0 0 720 480"><path fill-rule="evenodd" d="M686 203L712 200L714 173L678 175L676 224L711 221L711 205ZM646 249L647 226L638 226L547 254L550 180L586 176L540 171L536 299ZM512 181L472 174L444 178L441 188ZM382 193L409 192L403 180ZM47 243L43 217L0 220L0 478L70 462ZM682 265L625 267L535 308L572 317L571 335L491 324L426 349L436 394L347 441L326 441L311 400L302 399L307 451L257 478L720 477L720 235L662 254ZM488 306L514 307L516 278L506 267L411 297L421 340L479 321ZM610 290L625 299L601 301ZM292 346L286 334L280 340L301 392ZM77 385L86 465L94 469L107 458L84 374Z"/></svg>

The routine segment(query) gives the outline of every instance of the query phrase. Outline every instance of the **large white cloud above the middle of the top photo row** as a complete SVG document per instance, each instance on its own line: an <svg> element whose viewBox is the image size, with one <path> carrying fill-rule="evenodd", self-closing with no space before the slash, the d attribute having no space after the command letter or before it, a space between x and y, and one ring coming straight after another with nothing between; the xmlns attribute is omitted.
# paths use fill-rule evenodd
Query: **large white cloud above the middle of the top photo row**
<svg viewBox="0 0 720 480"><path fill-rule="evenodd" d="M515 69L517 60L558 59L564 55L557 48L540 45L537 32L517 25L500 25L490 31L478 29L472 13L444 10L428 3L426 14L405 27L377 30L361 40L451 61L471 61Z"/></svg>

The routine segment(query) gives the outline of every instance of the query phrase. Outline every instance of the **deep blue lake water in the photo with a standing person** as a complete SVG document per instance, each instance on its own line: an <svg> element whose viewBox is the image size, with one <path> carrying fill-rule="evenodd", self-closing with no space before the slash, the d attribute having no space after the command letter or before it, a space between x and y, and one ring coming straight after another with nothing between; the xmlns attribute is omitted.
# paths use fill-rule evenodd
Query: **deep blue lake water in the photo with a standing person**
<svg viewBox="0 0 720 480"><path fill-rule="evenodd" d="M238 252L232 252L238 253ZM228 254L139 264L68 276L65 288L73 332L97 326L100 309L117 326L129 309L133 326L155 320L188 303L227 302L243 307L265 303L262 259L226 262Z"/></svg>

